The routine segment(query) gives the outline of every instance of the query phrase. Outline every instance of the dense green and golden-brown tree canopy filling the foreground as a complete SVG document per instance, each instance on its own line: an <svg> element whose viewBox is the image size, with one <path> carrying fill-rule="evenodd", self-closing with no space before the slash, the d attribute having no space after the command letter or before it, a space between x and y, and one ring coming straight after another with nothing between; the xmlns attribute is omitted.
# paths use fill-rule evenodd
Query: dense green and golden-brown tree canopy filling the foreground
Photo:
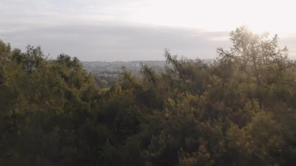
<svg viewBox="0 0 296 166"><path fill-rule="evenodd" d="M295 165L295 62L277 35L230 40L214 64L166 49L160 73L123 67L110 88L77 58L0 41L0 165Z"/></svg>

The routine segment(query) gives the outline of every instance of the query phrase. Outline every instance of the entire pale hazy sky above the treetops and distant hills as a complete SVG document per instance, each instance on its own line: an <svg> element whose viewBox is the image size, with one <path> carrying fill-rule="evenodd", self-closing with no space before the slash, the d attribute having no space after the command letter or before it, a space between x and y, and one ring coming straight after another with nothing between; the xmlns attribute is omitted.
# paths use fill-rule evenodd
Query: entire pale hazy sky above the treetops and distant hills
<svg viewBox="0 0 296 166"><path fill-rule="evenodd" d="M0 39L81 61L164 60L164 49L212 59L248 25L279 35L296 58L293 0L0 0Z"/></svg>

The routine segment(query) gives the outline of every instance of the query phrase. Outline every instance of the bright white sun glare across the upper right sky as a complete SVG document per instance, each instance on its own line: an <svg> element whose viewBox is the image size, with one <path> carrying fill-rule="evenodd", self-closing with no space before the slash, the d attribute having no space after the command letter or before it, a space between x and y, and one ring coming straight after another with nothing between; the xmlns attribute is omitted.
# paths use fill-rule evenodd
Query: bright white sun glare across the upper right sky
<svg viewBox="0 0 296 166"><path fill-rule="evenodd" d="M197 1L185 0L180 4L177 0L151 2L150 5L139 6L141 10L138 8L126 18L149 25L181 26L205 31L228 32L245 24L256 33L296 33L296 24L291 20L294 11L291 1L249 0L242 3L240 0L209 0L200 5Z"/></svg>

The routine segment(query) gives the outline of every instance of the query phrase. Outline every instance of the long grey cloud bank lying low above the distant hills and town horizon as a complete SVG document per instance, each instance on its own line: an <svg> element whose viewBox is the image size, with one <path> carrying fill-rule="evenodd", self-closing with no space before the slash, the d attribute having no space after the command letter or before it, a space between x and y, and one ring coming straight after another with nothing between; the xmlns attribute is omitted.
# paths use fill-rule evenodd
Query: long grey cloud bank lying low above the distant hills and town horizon
<svg viewBox="0 0 296 166"><path fill-rule="evenodd" d="M123 24L71 23L19 28L0 37L12 46L41 45L51 55L64 52L83 61L162 60L164 48L189 58L214 58L216 48L228 46L227 32L146 27Z"/></svg>

